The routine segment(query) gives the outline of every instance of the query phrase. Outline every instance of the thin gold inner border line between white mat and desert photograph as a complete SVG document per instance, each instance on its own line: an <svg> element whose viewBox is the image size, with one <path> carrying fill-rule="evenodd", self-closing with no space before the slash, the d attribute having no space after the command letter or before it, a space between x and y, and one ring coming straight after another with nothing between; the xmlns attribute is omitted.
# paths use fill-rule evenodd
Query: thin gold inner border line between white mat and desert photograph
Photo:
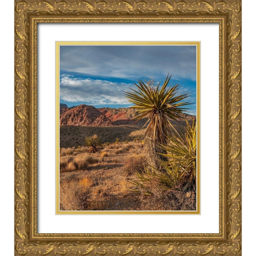
<svg viewBox="0 0 256 256"><path fill-rule="evenodd" d="M61 45L196 45L196 123L197 123L197 164L196 164L196 211L60 211L60 123L59 123L59 106L60 106L60 46ZM200 214L200 42L56 42L55 44L56 63L55 63L55 77L56 77L56 141L55 141L55 177L56 177L56 197L55 197L55 213L56 214Z"/></svg>

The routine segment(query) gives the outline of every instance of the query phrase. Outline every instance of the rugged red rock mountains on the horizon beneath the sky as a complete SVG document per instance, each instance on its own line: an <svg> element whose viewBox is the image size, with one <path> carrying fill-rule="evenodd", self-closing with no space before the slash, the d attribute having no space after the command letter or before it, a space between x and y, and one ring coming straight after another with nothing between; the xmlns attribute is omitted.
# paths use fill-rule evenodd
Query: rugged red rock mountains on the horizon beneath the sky
<svg viewBox="0 0 256 256"><path fill-rule="evenodd" d="M143 125L146 118L134 123L136 109L133 108L95 108L93 106L79 105L68 108L66 104L60 104L60 125L80 126L113 126L113 125ZM62 106L62 107L61 107ZM182 114L188 121L195 116ZM179 122L172 121L173 124Z"/></svg>

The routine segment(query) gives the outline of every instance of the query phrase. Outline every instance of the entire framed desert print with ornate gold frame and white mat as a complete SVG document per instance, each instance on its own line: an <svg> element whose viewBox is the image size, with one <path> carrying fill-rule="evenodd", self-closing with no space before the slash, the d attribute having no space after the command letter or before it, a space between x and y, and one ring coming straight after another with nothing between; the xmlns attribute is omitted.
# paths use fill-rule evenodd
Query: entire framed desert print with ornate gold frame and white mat
<svg viewBox="0 0 256 256"><path fill-rule="evenodd" d="M241 1L15 1L15 253L241 255Z"/></svg>

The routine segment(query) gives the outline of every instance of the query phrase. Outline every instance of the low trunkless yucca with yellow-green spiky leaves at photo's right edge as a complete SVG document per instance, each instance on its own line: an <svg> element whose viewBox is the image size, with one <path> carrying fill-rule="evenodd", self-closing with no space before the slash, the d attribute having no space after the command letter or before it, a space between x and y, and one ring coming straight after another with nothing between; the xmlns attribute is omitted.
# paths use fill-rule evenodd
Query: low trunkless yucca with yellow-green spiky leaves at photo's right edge
<svg viewBox="0 0 256 256"><path fill-rule="evenodd" d="M159 161L160 168L145 166L143 172L134 172L137 179L130 180L134 193L150 194L154 179L163 189L181 187L183 191L196 191L196 122L186 121L185 132L168 137L168 145L161 145L166 161ZM155 171L152 172L151 168Z"/></svg>

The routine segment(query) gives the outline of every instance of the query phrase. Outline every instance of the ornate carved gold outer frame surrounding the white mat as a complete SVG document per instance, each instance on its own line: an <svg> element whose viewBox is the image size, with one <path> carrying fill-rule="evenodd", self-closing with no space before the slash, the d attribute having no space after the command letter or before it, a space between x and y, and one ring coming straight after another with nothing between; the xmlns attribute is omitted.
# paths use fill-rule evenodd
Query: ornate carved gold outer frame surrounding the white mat
<svg viewBox="0 0 256 256"><path fill-rule="evenodd" d="M214 22L220 43L218 234L37 233L37 24ZM15 255L241 255L241 0L15 1Z"/></svg>

